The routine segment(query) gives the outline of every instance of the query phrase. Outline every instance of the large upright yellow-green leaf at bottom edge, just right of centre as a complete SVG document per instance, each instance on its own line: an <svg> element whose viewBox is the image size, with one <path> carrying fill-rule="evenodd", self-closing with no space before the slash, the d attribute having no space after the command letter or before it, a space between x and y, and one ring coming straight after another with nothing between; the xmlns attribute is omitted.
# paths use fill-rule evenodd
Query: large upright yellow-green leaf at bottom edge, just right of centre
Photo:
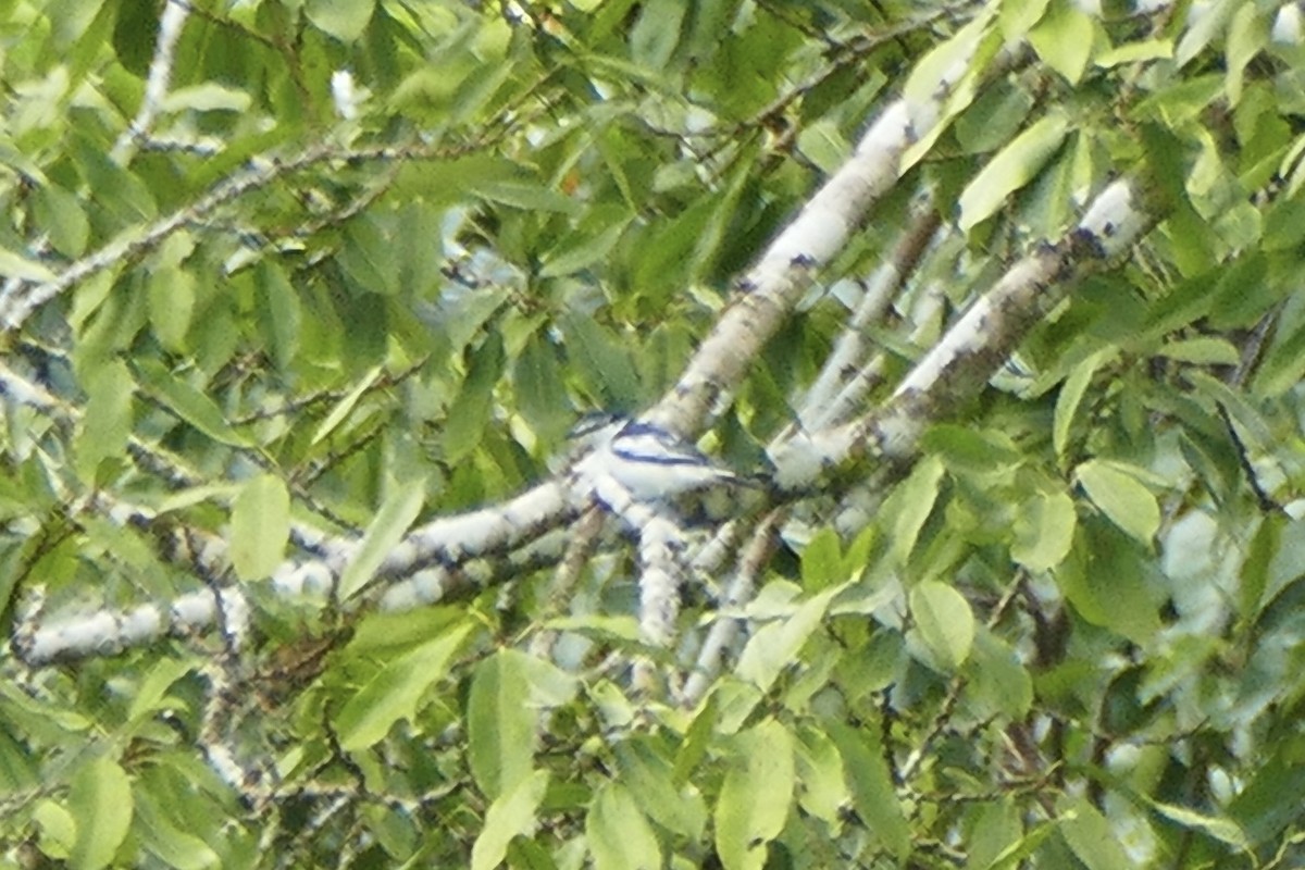
<svg viewBox="0 0 1305 870"><path fill-rule="evenodd" d="M793 737L773 719L741 732L716 802L716 854L726 870L761 870L766 844L788 819L796 783Z"/></svg>

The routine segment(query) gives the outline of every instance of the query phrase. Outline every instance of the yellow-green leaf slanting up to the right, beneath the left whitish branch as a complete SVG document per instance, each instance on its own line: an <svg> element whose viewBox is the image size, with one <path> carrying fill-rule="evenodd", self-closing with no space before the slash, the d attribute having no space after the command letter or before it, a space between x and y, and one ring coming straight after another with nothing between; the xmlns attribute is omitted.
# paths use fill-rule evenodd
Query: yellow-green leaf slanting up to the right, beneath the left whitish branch
<svg viewBox="0 0 1305 870"><path fill-rule="evenodd" d="M444 678L472 626L459 625L388 663L335 717L347 751L375 746L401 719L415 721L423 695Z"/></svg>

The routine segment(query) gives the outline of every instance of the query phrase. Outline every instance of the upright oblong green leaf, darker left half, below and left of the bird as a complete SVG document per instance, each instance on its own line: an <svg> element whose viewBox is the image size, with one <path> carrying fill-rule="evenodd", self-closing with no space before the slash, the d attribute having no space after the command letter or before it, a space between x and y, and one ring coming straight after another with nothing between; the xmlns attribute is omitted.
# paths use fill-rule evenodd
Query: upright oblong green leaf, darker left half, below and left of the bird
<svg viewBox="0 0 1305 870"><path fill-rule="evenodd" d="M530 695L526 655L500 650L476 665L467 697L467 758L480 790L510 792L530 776L538 715Z"/></svg>

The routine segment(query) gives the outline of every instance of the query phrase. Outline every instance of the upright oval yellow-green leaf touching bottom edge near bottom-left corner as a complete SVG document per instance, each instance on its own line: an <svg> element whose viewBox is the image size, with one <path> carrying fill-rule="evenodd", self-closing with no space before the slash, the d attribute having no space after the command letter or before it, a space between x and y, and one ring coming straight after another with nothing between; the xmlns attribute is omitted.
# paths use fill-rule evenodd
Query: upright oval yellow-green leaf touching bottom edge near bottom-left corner
<svg viewBox="0 0 1305 870"><path fill-rule="evenodd" d="M68 865L74 870L107 867L132 824L132 781L106 755L80 764L68 792L68 810L77 822Z"/></svg>

